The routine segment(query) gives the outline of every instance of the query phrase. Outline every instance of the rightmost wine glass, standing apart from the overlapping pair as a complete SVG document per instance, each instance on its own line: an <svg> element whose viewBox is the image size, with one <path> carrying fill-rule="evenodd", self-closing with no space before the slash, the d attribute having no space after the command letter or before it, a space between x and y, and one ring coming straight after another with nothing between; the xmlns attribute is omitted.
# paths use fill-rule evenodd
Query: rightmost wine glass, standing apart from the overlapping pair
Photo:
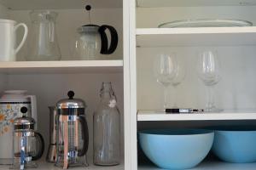
<svg viewBox="0 0 256 170"><path fill-rule="evenodd" d="M214 51L208 50L200 54L198 60L198 76L207 87L207 112L219 112L214 104L213 88L220 81L220 63L218 54Z"/></svg>

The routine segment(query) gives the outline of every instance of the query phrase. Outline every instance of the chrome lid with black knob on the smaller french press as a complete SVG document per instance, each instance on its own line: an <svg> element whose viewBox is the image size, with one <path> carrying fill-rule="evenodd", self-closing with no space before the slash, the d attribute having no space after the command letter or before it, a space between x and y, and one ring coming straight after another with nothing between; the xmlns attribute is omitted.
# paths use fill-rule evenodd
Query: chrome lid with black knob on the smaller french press
<svg viewBox="0 0 256 170"><path fill-rule="evenodd" d="M14 125L15 130L30 130L34 129L35 120L32 117L25 116L27 112L26 107L21 107L20 112L22 113L22 117L15 118Z"/></svg>

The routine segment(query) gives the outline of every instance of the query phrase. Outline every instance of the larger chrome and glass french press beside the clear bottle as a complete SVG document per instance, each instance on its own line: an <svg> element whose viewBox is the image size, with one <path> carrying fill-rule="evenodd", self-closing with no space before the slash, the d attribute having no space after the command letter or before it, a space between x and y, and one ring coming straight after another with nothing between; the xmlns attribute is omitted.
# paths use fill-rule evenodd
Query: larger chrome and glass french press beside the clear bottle
<svg viewBox="0 0 256 170"><path fill-rule="evenodd" d="M86 167L89 145L88 126L84 116L86 105L82 99L74 99L73 91L68 99L57 103L57 156L55 166Z"/></svg>

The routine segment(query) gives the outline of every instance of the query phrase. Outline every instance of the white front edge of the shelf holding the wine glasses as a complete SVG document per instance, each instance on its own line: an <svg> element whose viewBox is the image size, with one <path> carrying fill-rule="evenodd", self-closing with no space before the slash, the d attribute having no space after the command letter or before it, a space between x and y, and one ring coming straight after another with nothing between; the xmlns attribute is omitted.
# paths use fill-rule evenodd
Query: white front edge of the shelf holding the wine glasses
<svg viewBox="0 0 256 170"><path fill-rule="evenodd" d="M166 114L164 111L138 111L137 121L221 121L256 120L256 111Z"/></svg>

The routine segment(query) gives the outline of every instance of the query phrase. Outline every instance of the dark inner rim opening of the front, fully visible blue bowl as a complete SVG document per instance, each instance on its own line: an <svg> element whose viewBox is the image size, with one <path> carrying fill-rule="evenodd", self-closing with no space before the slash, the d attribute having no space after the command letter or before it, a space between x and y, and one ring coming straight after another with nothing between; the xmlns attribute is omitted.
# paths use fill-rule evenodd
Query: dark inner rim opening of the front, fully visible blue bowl
<svg viewBox="0 0 256 170"><path fill-rule="evenodd" d="M214 130L204 128L182 128L182 129L150 129L142 130L139 134L160 135L160 136L189 136L214 133Z"/></svg>

